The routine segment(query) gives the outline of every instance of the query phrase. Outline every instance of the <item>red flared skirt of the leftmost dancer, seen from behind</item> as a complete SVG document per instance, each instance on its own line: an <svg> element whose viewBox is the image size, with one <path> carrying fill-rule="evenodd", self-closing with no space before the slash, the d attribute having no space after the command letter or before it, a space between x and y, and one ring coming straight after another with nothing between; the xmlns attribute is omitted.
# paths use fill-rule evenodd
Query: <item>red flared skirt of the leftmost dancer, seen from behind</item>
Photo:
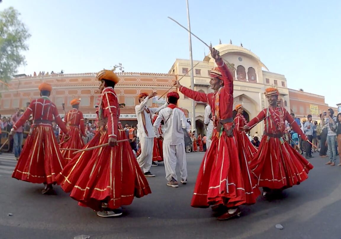
<svg viewBox="0 0 341 239"><path fill-rule="evenodd" d="M65 166L51 125L38 125L26 139L12 177L31 183L55 183Z"/></svg>

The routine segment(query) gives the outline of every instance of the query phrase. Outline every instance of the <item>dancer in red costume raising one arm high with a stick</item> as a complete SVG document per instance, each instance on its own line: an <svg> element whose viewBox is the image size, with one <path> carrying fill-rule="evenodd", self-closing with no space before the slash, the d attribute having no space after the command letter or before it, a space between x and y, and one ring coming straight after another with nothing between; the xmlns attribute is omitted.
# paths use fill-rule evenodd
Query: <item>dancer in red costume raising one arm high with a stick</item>
<svg viewBox="0 0 341 239"><path fill-rule="evenodd" d="M192 207L207 208L214 205L220 220L240 215L238 206L254 204L260 191L248 168L248 162L239 159L234 136L233 77L216 49L210 49L218 65L210 73L210 85L214 93L201 93L176 83L182 94L211 106L214 130L212 144L205 153L199 169ZM222 211L223 210L223 211Z"/></svg>

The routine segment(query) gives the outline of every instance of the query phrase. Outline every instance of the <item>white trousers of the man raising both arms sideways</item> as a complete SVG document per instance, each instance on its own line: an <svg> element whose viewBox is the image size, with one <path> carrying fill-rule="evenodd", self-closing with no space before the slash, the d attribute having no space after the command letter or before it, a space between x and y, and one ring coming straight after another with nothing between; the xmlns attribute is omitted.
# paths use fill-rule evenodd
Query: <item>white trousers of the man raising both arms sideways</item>
<svg viewBox="0 0 341 239"><path fill-rule="evenodd" d="M154 138L140 137L141 154L137 157L138 165L143 173L147 173L153 161Z"/></svg>

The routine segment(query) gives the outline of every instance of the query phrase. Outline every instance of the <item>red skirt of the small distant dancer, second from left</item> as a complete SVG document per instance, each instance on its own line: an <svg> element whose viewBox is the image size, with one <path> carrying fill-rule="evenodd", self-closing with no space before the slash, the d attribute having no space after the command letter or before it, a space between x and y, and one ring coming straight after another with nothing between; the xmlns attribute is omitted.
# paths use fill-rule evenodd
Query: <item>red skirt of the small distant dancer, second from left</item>
<svg viewBox="0 0 341 239"><path fill-rule="evenodd" d="M60 146L60 148L62 148L62 149L82 149L84 147L84 141L82 139L79 127L69 126L68 131L69 131L70 139L67 142L63 143ZM61 142L64 141L64 138L65 138L65 135L63 135ZM73 152L75 152L75 151L61 150L61 153L65 159L66 164L68 164L69 161L73 159L73 157L74 157Z"/></svg>

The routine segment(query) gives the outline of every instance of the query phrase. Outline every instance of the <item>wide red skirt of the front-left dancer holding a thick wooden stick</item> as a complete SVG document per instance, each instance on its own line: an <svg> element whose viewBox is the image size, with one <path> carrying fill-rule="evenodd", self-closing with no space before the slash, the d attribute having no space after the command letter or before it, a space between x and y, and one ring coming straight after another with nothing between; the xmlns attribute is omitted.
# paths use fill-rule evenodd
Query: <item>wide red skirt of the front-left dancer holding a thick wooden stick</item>
<svg viewBox="0 0 341 239"><path fill-rule="evenodd" d="M126 139L119 125L117 140ZM107 132L98 132L85 148L108 143ZM79 205L101 210L130 205L134 197L151 193L148 182L135 159L128 141L115 147L83 151L58 175L57 183L79 201Z"/></svg>

